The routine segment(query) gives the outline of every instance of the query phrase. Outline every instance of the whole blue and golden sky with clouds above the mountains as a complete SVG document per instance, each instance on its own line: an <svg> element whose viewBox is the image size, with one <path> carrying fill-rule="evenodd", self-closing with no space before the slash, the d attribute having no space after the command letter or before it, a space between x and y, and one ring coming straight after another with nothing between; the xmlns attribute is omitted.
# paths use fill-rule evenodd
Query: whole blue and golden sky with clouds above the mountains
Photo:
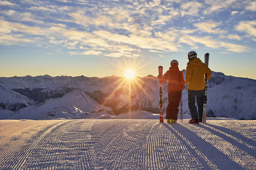
<svg viewBox="0 0 256 170"><path fill-rule="evenodd" d="M256 79L255 0L0 0L0 77L158 75L209 68Z"/></svg>

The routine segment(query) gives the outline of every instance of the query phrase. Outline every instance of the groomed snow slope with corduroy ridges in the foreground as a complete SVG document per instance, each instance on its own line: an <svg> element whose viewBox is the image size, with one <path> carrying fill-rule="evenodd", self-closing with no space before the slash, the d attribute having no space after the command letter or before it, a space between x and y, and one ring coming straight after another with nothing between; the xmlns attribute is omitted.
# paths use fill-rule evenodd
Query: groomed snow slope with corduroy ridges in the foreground
<svg viewBox="0 0 256 170"><path fill-rule="evenodd" d="M255 123L2 120L0 169L256 169Z"/></svg>

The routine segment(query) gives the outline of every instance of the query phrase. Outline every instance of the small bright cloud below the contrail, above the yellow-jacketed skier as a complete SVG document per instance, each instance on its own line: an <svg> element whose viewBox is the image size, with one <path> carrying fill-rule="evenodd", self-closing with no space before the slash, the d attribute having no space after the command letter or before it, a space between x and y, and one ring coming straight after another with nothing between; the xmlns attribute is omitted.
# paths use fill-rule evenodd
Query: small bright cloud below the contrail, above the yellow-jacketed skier
<svg viewBox="0 0 256 170"><path fill-rule="evenodd" d="M199 22L196 24L193 24L195 27L197 27L199 30L207 33L213 33L213 34L220 34L220 33L227 33L225 30L221 30L220 28L213 29L217 26L220 26L222 22L214 22L212 20L208 20L207 22Z"/></svg>

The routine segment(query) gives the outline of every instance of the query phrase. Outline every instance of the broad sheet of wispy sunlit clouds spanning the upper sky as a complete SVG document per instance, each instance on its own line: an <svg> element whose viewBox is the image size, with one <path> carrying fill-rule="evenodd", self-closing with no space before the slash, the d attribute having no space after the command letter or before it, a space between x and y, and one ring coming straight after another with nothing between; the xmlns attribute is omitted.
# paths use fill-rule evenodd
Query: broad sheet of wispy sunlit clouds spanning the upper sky
<svg viewBox="0 0 256 170"><path fill-rule="evenodd" d="M1 43L51 44L70 49L72 54L114 57L141 56L142 51L155 54L182 51L182 44L188 44L192 48L199 48L203 44L207 48L234 52L248 50L244 45L228 42L241 41L243 36L228 32L225 22L204 19L205 15L214 11L234 7L236 0L206 1L205 4L176 1L178 7L175 8L171 1L164 3L160 0L116 1L108 4L82 0L57 2L62 3L52 5L42 1L23 0L22 3L13 4L0 1L0 5L12 7L0 11ZM77 6L76 3L81 4ZM24 5L23 11L15 11L13 6L18 5L20 8ZM208 9L208 13L203 12L203 9ZM193 17L196 15L200 17ZM235 28L250 36L256 35L255 21L241 21ZM221 41L222 39L227 42Z"/></svg>

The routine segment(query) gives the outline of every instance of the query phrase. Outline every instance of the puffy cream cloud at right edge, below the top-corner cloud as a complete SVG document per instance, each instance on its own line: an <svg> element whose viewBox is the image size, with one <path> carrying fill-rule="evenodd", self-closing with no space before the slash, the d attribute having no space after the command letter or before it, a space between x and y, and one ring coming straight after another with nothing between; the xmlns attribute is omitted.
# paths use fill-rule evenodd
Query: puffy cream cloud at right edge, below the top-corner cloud
<svg viewBox="0 0 256 170"><path fill-rule="evenodd" d="M244 32L250 36L256 37L256 21L241 21L235 26L236 31Z"/></svg>

